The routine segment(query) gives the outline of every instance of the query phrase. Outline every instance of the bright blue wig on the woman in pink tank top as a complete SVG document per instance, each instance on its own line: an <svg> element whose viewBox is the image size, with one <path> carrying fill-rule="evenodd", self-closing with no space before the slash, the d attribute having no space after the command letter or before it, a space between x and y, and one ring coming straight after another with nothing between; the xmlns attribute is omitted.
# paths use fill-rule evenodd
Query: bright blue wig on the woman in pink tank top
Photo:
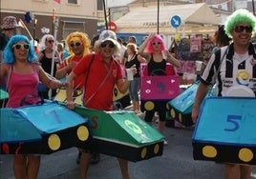
<svg viewBox="0 0 256 179"><path fill-rule="evenodd" d="M29 38L25 35L13 35L13 36L11 36L11 39L9 40L5 50L3 51L4 62L7 64L13 64L15 62L12 46L14 44L17 44L18 42L25 42L30 45L28 61L29 62L36 61L37 56L36 56L34 47L33 47L32 43L30 42Z"/></svg>

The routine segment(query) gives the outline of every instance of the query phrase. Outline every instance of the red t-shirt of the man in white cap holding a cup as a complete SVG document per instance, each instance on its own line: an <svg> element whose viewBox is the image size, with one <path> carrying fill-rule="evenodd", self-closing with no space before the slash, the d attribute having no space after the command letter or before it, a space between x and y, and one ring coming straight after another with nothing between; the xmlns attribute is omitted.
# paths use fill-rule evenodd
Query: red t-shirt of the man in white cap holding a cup
<svg viewBox="0 0 256 179"><path fill-rule="evenodd" d="M86 75L92 59L92 54L86 55L81 59L73 70L75 74ZM107 79L104 81L106 76ZM122 71L118 62L112 58L110 63L107 64L101 54L95 54L94 61L89 70L85 95L83 98L85 106L90 109L112 110L113 89L119 79L122 79ZM92 95L93 98L87 102Z"/></svg>

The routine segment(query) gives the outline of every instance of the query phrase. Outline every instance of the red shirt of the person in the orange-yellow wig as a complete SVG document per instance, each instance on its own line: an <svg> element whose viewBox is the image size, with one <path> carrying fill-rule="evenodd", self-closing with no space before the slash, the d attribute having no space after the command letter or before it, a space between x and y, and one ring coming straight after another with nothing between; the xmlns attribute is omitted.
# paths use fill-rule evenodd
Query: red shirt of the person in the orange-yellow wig
<svg viewBox="0 0 256 179"><path fill-rule="evenodd" d="M68 64L69 64L70 62L75 62L76 65L77 65L78 62L79 62L81 59L83 59L83 58L84 58L84 56L83 56L83 57L70 56L70 57L68 57L66 60L64 60L64 61L60 64L60 66L59 66L58 69L63 69L63 68L65 68L66 66L68 66ZM69 74L69 73L71 73L71 70L68 71L68 74ZM77 77L75 78L74 88L75 88L75 89L82 89L82 88L84 87L84 83L85 83L85 77L84 77L84 74L81 73L79 76L77 76Z"/></svg>

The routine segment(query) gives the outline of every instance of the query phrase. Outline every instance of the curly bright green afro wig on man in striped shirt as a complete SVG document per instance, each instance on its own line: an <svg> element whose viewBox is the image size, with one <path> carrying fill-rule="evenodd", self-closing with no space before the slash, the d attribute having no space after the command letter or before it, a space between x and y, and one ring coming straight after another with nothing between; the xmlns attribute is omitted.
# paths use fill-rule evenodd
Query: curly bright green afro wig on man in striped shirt
<svg viewBox="0 0 256 179"><path fill-rule="evenodd" d="M232 37L230 31L235 28L235 26L239 23L248 23L252 27L252 31L256 29L256 19L254 15L245 9L240 9L234 11L224 24L224 30L227 36Z"/></svg>

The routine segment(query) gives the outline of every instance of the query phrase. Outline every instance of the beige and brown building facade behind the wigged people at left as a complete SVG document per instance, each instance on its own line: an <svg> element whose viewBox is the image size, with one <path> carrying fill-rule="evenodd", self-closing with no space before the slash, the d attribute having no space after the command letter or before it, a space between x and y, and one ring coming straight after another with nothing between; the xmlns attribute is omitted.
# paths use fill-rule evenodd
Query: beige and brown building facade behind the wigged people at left
<svg viewBox="0 0 256 179"><path fill-rule="evenodd" d="M103 18L96 0L2 0L1 23L5 16L13 15L27 27L21 33L31 38L54 34L61 41L72 31L86 32L92 38L97 32L98 18ZM99 7L100 9L100 7ZM27 13L27 15L25 15ZM28 17L29 16L29 17ZM29 20L31 18L31 21ZM54 21L55 19L55 21Z"/></svg>

